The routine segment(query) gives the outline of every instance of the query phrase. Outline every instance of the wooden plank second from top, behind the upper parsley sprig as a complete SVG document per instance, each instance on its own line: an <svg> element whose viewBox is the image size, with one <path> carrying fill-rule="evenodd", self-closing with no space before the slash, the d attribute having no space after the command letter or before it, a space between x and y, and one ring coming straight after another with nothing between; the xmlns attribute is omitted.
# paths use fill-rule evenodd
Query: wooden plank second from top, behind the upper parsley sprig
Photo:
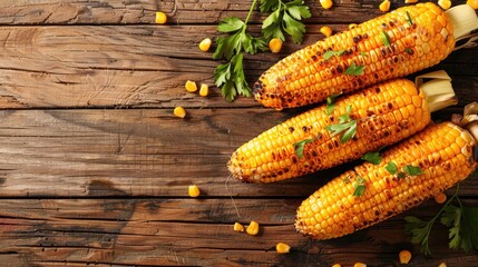
<svg viewBox="0 0 478 267"><path fill-rule="evenodd" d="M258 107L244 98L231 105L215 87L208 98L185 91L186 80L214 83L220 62L197 49L198 40L214 34L211 26L2 27L0 108ZM304 46L321 38L314 29ZM247 57L247 79L252 83L301 47ZM433 69L447 70L458 90L475 90L476 58L478 49L457 51Z"/></svg>

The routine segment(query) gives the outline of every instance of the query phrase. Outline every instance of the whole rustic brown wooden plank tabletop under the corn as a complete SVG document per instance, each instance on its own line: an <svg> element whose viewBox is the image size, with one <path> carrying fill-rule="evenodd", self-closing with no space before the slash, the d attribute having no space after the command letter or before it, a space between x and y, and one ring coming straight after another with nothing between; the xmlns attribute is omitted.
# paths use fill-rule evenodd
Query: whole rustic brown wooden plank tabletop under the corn
<svg viewBox="0 0 478 267"><path fill-rule="evenodd" d="M251 2L0 1L1 266L398 266L401 249L412 251L410 266L478 266L476 253L448 248L440 225L431 257L409 241L403 216L430 218L440 208L433 200L335 240L296 234L300 202L350 166L273 185L227 178L238 146L301 111L230 103L214 87L207 98L184 90L186 80L213 85L218 62L197 43L217 36L221 19L245 18ZM379 1L336 1L329 11L306 3L303 46L323 38L321 26L339 31L381 13ZM166 26L154 23L157 10ZM258 32L264 18L254 12L250 29ZM248 81L301 47L247 57ZM432 69L447 70L459 96L435 119L478 100L477 48ZM186 119L173 116L176 106ZM197 199L187 195L192 184ZM477 177L461 188L477 206ZM233 230L251 220L257 236ZM277 241L292 251L275 253Z"/></svg>

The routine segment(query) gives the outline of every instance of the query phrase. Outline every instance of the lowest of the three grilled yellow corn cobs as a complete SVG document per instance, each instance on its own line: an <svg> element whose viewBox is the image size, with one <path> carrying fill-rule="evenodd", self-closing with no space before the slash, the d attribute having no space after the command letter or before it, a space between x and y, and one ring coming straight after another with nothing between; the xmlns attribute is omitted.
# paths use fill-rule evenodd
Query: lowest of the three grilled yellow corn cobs
<svg viewBox="0 0 478 267"><path fill-rule="evenodd" d="M432 125L386 151L379 165L362 164L316 190L299 207L295 227L329 239L410 209L468 177L478 166L476 146L468 130L451 122ZM391 161L398 169L411 165L423 174L400 178L386 170ZM364 191L353 196L358 178L364 181Z"/></svg>

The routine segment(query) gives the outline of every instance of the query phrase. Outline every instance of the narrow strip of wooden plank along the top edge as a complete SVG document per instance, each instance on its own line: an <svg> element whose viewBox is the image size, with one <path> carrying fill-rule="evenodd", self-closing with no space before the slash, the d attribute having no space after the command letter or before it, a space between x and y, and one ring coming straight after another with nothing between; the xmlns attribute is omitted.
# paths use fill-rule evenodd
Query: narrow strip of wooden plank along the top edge
<svg viewBox="0 0 478 267"><path fill-rule="evenodd" d="M318 1L305 1L313 17L308 23L350 23L361 22L382 14L377 1L335 1L331 10L324 10ZM403 1L391 1L392 9L399 8ZM423 1L425 2L425 1ZM465 0L453 2L465 3ZM169 24L217 23L217 21L235 16L245 19L252 0L53 0L28 1L6 0L0 2L0 24L111 24L111 23L155 23L155 12L160 10L168 16ZM265 19L258 9L251 22L257 23Z"/></svg>

